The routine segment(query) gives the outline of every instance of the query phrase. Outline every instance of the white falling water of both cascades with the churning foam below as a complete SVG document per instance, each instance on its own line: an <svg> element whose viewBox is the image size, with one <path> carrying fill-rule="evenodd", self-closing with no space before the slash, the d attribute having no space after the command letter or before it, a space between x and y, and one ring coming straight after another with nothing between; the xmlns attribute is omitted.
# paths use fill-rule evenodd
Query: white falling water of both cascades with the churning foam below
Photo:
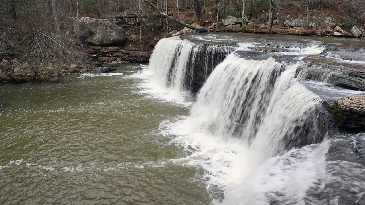
<svg viewBox="0 0 365 205"><path fill-rule="evenodd" d="M158 85L162 92L156 96L172 90L176 96L186 96L186 82L191 80L187 76L192 76L188 62L195 61L196 48L187 40L161 40L149 69L139 74L149 76L145 76L149 79L143 84L145 90L150 92ZM314 45L278 55L301 59L323 49ZM205 81L190 115L160 124L161 133L187 152L171 161L203 168L197 177L205 181L212 198L225 194L223 204L265 204L270 200L267 194L277 190L291 198L283 201L300 204L308 187L323 173L328 142L284 154L289 147L303 146L298 139L315 142L319 134L314 113L322 99L296 81L298 65L272 57L253 60L228 55ZM275 182L265 185L267 180ZM303 184L298 186L294 180Z"/></svg>

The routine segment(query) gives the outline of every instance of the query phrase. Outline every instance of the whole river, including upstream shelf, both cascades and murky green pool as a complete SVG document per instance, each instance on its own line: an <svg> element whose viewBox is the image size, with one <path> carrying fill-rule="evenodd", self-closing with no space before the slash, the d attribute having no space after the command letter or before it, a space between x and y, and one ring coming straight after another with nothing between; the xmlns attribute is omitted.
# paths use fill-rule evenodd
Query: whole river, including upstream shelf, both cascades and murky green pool
<svg viewBox="0 0 365 205"><path fill-rule="evenodd" d="M0 204L364 202L365 135L322 106L364 93L331 81L361 77L364 41L275 37L183 35L149 65L1 85Z"/></svg>

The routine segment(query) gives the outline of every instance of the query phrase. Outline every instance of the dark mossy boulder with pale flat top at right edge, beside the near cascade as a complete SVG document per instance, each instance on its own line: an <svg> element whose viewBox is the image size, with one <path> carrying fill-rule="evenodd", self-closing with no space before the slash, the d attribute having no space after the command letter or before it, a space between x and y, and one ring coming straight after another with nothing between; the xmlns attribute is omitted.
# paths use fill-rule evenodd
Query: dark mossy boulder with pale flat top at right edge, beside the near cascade
<svg viewBox="0 0 365 205"><path fill-rule="evenodd" d="M334 121L342 129L365 130L365 95L343 97L332 106Z"/></svg>

